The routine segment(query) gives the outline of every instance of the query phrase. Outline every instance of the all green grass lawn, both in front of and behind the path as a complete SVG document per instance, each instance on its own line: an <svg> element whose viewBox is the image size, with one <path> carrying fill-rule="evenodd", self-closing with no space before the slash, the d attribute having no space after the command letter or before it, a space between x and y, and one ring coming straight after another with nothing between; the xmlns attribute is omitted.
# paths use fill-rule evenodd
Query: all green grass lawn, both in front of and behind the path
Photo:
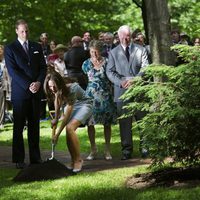
<svg viewBox="0 0 200 200"><path fill-rule="evenodd" d="M97 127L97 144L99 152L103 153L104 139L102 127ZM41 123L41 149L50 148L51 129L49 122ZM81 152L89 152L89 141L86 128L80 128L78 135ZM24 134L26 136L26 134ZM25 137L26 138L26 137ZM12 139L12 125L7 124L0 133L0 145L10 146ZM134 136L134 144L138 147L139 137ZM27 145L27 141L25 142ZM65 134L59 139L58 150L66 151ZM113 126L112 155L121 156L118 126ZM135 148L134 156L139 156ZM200 200L200 187L194 188L152 188L145 190L128 189L125 186L127 177L135 173L146 172L145 166L104 170L98 172L82 172L53 181L32 183L14 183L12 178L18 173L17 169L0 168L0 200L18 199L55 199L55 200Z"/></svg>

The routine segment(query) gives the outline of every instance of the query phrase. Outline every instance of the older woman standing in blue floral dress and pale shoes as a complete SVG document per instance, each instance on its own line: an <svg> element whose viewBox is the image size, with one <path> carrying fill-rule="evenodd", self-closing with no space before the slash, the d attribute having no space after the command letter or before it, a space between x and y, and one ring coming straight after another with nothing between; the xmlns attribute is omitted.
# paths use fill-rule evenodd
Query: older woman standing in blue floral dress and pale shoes
<svg viewBox="0 0 200 200"><path fill-rule="evenodd" d="M101 56L103 49L103 43L101 41L92 40L89 49L91 57L82 66L89 81L86 94L93 99L93 116L88 123L91 153L87 157L87 160L93 160L97 155L95 124L103 124L104 126L105 159L111 160L111 124L114 122L116 109L113 102L111 83L106 76L107 59Z"/></svg>

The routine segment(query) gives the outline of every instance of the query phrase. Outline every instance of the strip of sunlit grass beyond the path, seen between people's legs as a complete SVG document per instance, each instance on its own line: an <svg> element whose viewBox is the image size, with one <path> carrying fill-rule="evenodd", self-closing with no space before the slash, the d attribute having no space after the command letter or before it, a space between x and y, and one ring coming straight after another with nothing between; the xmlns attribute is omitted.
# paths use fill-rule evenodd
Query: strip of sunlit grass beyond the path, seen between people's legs
<svg viewBox="0 0 200 200"><path fill-rule="evenodd" d="M51 149L51 127L48 121L40 123L40 147L41 149ZM87 127L79 128L77 130L77 134L80 140L81 152L89 153L90 151L90 143L87 135ZM138 157L138 146L139 146L139 137L138 134L134 134L134 152L133 156ZM98 147L98 151L103 154L104 151L104 134L103 134L103 126L96 126L96 143ZM27 143L27 131L24 131L24 143L25 146L28 146ZM12 145L12 124L6 124L5 128L0 133L0 145L1 146L11 146ZM59 137L58 144L56 145L56 150L66 151L66 134L65 130L61 133ZM111 139L111 152L115 157L121 156L121 144L120 144L120 136L119 136L119 128L117 125L112 127L112 139Z"/></svg>

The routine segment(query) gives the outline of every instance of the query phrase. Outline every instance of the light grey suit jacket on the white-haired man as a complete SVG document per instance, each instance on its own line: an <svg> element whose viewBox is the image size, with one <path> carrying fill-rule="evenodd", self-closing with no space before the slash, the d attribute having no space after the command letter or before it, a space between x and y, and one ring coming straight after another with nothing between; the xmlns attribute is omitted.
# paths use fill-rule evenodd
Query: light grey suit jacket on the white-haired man
<svg viewBox="0 0 200 200"><path fill-rule="evenodd" d="M119 44L109 54L106 74L114 84L114 101L120 102L119 97L126 91L121 87L124 77L141 76L141 69L149 64L147 51L144 47L131 44L129 62L123 47Z"/></svg>

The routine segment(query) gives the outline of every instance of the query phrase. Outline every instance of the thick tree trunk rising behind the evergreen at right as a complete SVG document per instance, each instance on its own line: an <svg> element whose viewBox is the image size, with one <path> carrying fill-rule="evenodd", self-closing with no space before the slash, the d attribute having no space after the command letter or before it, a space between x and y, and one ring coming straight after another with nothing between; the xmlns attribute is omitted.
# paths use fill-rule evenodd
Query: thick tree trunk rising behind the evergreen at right
<svg viewBox="0 0 200 200"><path fill-rule="evenodd" d="M146 12L148 38L152 62L155 64L174 65L175 56L170 50L170 16L167 0L143 0L142 9Z"/></svg>

